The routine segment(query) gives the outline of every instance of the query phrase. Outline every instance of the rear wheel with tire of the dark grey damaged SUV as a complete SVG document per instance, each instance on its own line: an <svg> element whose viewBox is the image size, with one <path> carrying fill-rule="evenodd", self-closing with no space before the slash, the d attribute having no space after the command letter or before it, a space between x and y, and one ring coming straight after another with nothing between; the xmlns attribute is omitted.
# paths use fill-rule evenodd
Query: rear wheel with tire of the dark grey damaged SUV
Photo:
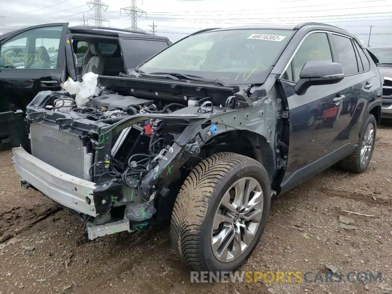
<svg viewBox="0 0 392 294"><path fill-rule="evenodd" d="M377 122L373 114L369 114L359 131L358 148L339 162L339 167L345 171L364 172L372 158L376 143Z"/></svg>

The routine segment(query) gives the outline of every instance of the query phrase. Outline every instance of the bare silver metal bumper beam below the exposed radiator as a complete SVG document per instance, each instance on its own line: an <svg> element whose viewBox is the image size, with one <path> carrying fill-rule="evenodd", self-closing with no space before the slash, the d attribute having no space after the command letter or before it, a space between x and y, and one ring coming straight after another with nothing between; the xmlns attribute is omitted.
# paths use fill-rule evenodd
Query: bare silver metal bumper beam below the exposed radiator
<svg viewBox="0 0 392 294"><path fill-rule="evenodd" d="M13 148L12 153L15 171L22 181L65 207L96 216L93 199L95 183L66 174L29 154L22 147Z"/></svg>

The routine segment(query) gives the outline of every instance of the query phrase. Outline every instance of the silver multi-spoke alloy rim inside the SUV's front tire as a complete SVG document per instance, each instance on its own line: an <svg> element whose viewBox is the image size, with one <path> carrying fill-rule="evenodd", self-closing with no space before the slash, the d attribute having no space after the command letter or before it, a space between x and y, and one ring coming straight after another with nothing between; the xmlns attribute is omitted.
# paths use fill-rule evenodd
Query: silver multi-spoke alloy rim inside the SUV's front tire
<svg viewBox="0 0 392 294"><path fill-rule="evenodd" d="M263 191L251 177L234 182L223 194L211 232L214 256L227 263L239 258L254 240L263 214Z"/></svg>

